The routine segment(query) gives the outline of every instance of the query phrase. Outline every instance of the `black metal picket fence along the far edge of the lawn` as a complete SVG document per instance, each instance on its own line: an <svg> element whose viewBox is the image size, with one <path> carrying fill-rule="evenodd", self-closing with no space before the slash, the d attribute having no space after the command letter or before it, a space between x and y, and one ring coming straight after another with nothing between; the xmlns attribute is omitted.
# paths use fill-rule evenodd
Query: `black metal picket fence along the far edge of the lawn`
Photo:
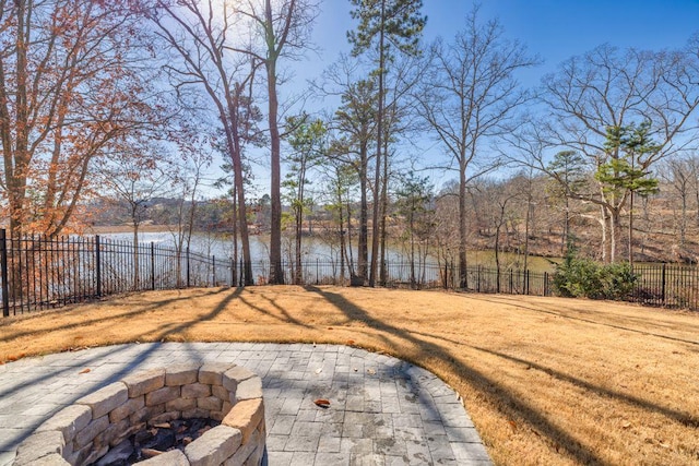
<svg viewBox="0 0 699 466"><path fill-rule="evenodd" d="M256 284L269 278L269 262L250 264ZM350 285L350 271L339 261L316 260L301 264L303 285ZM285 283L297 276L292 262L284 263ZM187 287L242 286L244 264L228 258L204 255L150 243L96 237L10 238L0 230L2 314L61 307L104 296ZM415 289L459 288L452 263L389 262L384 287ZM699 268L675 264L636 265L638 279L628 297L651 306L699 309ZM299 284L299 285L301 285ZM553 275L521 270L469 267L465 287L472 292L552 296Z"/></svg>

